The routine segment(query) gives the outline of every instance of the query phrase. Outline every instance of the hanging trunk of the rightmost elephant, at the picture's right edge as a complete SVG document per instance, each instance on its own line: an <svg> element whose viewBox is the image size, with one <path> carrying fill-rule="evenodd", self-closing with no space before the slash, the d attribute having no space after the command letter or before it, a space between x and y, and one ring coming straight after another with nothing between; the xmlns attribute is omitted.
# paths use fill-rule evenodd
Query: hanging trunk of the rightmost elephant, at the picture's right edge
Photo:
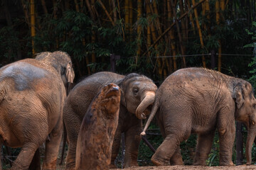
<svg viewBox="0 0 256 170"><path fill-rule="evenodd" d="M247 133L246 149L245 149L247 165L250 165L252 163L252 145L256 136L256 125L255 125L256 122L255 120L253 120L252 117L255 117L255 115L250 115L250 125L248 125L248 128L247 128L248 133Z"/></svg>

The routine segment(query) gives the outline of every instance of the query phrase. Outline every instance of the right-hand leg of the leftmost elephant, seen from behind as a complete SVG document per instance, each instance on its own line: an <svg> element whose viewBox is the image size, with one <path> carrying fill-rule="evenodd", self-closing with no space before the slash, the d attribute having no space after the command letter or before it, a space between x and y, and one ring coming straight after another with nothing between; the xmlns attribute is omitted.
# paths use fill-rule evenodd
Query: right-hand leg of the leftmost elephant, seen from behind
<svg viewBox="0 0 256 170"><path fill-rule="evenodd" d="M43 169L56 169L60 141L63 134L62 118L50 132L50 140L46 140L46 153L43 159Z"/></svg>

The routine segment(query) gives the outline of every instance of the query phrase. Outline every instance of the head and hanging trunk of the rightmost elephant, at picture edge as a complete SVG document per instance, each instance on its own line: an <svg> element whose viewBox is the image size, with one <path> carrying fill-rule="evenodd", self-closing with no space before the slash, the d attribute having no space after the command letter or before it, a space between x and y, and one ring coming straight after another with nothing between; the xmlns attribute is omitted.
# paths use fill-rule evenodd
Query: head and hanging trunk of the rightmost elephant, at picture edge
<svg viewBox="0 0 256 170"><path fill-rule="evenodd" d="M247 125L246 164L251 164L252 144L256 136L256 100L251 84L238 82L233 90L233 98L236 103L235 119Z"/></svg>

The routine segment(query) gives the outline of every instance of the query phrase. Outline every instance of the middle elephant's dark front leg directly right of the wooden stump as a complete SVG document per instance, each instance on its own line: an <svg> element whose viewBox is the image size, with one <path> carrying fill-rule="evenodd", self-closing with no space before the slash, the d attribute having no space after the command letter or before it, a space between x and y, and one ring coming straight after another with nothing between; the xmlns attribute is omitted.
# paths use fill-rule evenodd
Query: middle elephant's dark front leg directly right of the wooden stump
<svg viewBox="0 0 256 170"><path fill-rule="evenodd" d="M110 169L117 168L117 166L115 166L115 164L114 164L114 160L117 158L117 154L119 153L121 134L122 134L121 130L119 130L119 128L117 128L117 130L114 134L114 140L113 140L113 145L112 145Z"/></svg>

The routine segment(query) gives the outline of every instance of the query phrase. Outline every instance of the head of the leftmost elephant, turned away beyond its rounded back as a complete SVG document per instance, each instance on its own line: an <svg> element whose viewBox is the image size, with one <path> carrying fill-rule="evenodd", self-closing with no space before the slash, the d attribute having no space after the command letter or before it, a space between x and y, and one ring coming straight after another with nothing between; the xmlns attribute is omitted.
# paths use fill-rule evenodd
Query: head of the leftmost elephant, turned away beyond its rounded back
<svg viewBox="0 0 256 170"><path fill-rule="evenodd" d="M41 52L36 55L36 60L39 60L45 64L53 66L65 85L65 89L68 93L70 84L73 84L75 73L72 67L70 56L66 52Z"/></svg>

